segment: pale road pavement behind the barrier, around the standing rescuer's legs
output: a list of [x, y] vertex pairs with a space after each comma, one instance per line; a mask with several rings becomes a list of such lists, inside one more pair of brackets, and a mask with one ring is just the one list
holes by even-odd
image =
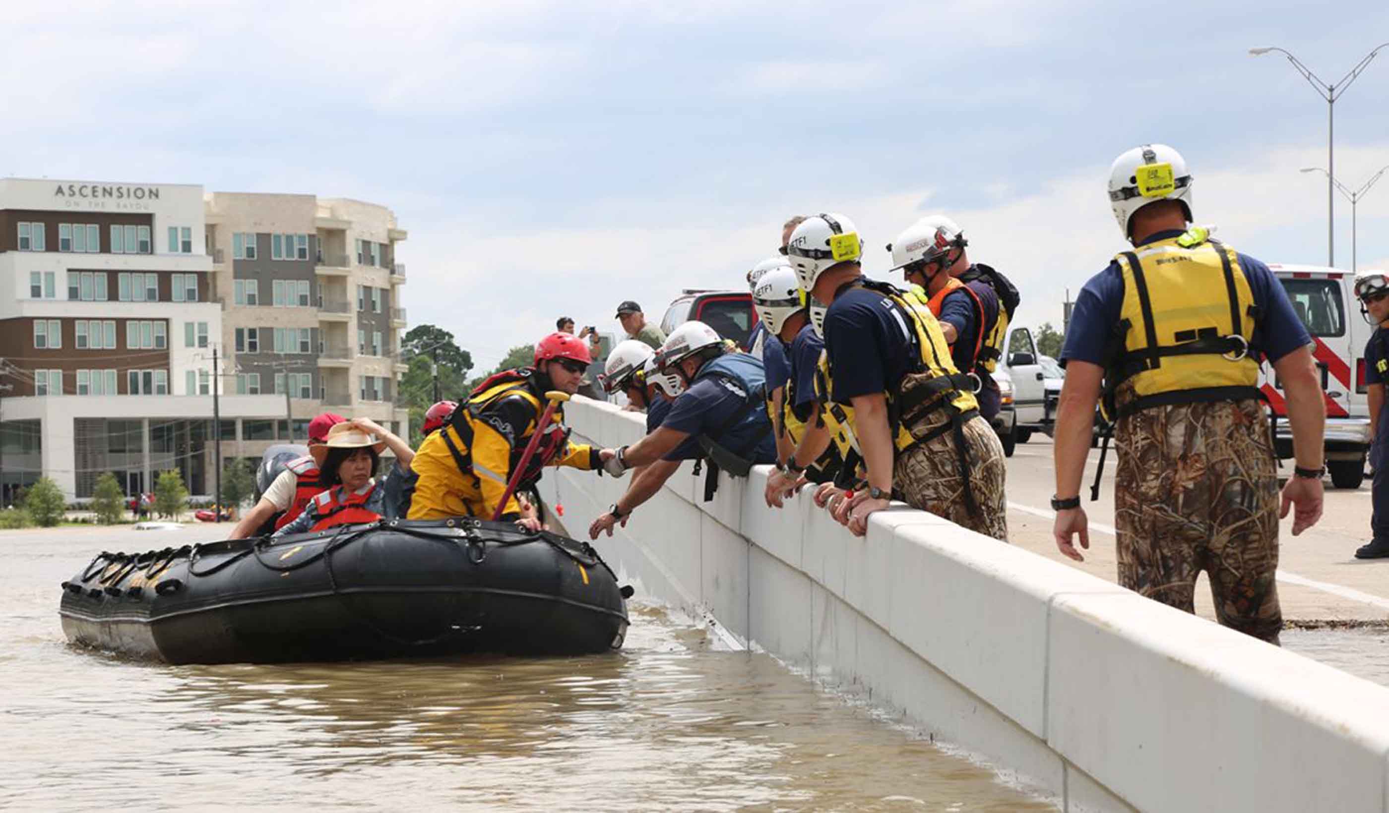
[[[1061, 555], [1051, 538], [1050, 509], [1056, 490], [1051, 468], [1051, 440], [1033, 434], [1018, 444], [1008, 458], [1008, 541], [1014, 545], [1085, 570], [1108, 581], [1115, 580], [1114, 556], [1114, 450], [1106, 462], [1100, 499], [1090, 502], [1090, 481], [1099, 450], [1090, 451], [1085, 468], [1085, 512], [1090, 520], [1090, 549], [1082, 551], [1085, 562]], [[1283, 462], [1292, 473], [1292, 462]], [[1281, 524], [1278, 595], [1286, 622], [1308, 626], [1325, 623], [1389, 624], [1389, 559], [1360, 560], [1356, 548], [1370, 538], [1370, 479], [1357, 490], [1332, 488], [1325, 481], [1326, 501], [1321, 520], [1301, 536], [1292, 536], [1292, 513]], [[1210, 584], [1201, 574], [1196, 587], [1196, 612], [1215, 617]]]

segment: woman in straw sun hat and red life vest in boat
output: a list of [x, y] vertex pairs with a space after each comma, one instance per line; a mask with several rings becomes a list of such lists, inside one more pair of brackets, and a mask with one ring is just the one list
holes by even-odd
[[[381, 452], [388, 447], [396, 455], [396, 465], [378, 481], [374, 474]], [[325, 441], [313, 447], [310, 454], [328, 490], [314, 497], [294, 522], [275, 531], [272, 538], [397, 516], [397, 506], [388, 498], [392, 488], [386, 483], [404, 477], [410, 470], [410, 461], [415, 456], [410, 444], [375, 420], [357, 418], [329, 429]]]

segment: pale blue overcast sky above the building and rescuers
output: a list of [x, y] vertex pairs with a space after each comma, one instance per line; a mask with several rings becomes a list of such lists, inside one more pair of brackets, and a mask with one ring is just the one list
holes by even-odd
[[[6, 10], [0, 175], [354, 197], [410, 232], [410, 322], [479, 366], [560, 314], [617, 330], [738, 287], [781, 222], [838, 211], [883, 244], [954, 216], [1020, 319], [1122, 248], [1104, 185], [1181, 150], [1196, 218], [1270, 262], [1326, 261], [1328, 82], [1389, 4], [40, 3]], [[1389, 49], [1336, 104], [1336, 175], [1389, 164]], [[1350, 268], [1350, 205], [1336, 201]], [[1360, 205], [1389, 266], [1389, 180]]]

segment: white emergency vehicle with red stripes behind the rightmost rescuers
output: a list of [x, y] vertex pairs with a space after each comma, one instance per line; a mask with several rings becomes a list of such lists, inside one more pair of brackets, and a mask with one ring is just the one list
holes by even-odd
[[[1326, 400], [1326, 469], [1336, 488], [1358, 488], [1370, 452], [1370, 400], [1365, 387], [1365, 341], [1374, 333], [1354, 307], [1354, 277], [1347, 271], [1314, 265], [1268, 268], [1288, 291], [1293, 309], [1311, 333], [1311, 352], [1321, 372]], [[1260, 388], [1278, 413], [1279, 458], [1293, 454], [1288, 405], [1271, 365], [1264, 366]]]

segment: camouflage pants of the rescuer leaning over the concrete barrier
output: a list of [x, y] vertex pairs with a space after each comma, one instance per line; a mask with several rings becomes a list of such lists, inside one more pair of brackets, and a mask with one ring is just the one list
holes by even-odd
[[[921, 437], [943, 425], [945, 411], [936, 411], [911, 433]], [[964, 499], [964, 480], [960, 477], [960, 454], [954, 431], [928, 440], [897, 455], [893, 487], [903, 501], [921, 511], [929, 511], [950, 522], [996, 540], [1008, 541], [1007, 501], [1003, 494], [1006, 465], [1003, 444], [983, 418], [971, 418], [964, 425], [965, 454], [968, 455], [970, 488], [976, 513], [971, 513]]]

